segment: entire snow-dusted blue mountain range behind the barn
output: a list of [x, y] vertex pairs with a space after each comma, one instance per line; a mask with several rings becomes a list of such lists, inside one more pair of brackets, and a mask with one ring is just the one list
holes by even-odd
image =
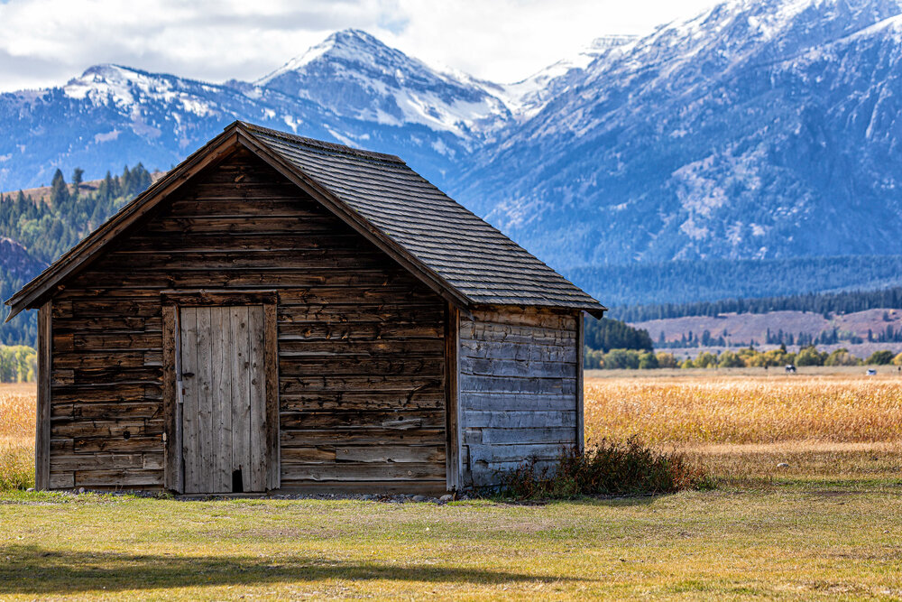
[[0, 190], [168, 168], [235, 120], [396, 153], [549, 264], [902, 255], [897, 0], [732, 0], [515, 84], [354, 30], [254, 82], [0, 95]]

